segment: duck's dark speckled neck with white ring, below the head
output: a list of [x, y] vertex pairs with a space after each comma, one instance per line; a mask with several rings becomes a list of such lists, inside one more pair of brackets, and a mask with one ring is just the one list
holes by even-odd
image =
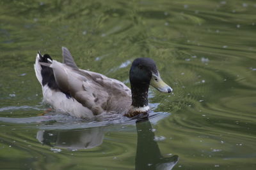
[[148, 106], [148, 84], [131, 84], [132, 104], [126, 114], [127, 117], [134, 117], [140, 113], [147, 113]]

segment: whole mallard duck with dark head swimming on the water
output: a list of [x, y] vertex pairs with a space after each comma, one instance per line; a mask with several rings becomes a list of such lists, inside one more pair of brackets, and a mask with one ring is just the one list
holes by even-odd
[[154, 60], [134, 59], [129, 71], [131, 89], [122, 81], [103, 74], [79, 69], [70, 51], [62, 47], [63, 62], [45, 53], [36, 54], [36, 78], [42, 86], [43, 102], [52, 109], [77, 118], [93, 118], [102, 113], [118, 113], [125, 117], [147, 114], [148, 89], [160, 92], [173, 89], [161, 79]]

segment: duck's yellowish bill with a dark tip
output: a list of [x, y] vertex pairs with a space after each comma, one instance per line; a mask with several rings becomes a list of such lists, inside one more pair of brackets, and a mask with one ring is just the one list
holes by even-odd
[[160, 92], [170, 93], [172, 92], [172, 87], [168, 86], [164, 81], [161, 79], [160, 76], [157, 76], [156, 74], [152, 75], [152, 78], [150, 80], [150, 85], [155, 87]]

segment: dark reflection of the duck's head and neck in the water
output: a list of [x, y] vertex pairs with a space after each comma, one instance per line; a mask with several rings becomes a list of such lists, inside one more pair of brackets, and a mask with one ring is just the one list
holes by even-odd
[[148, 117], [140, 118], [136, 122], [138, 133], [135, 169], [172, 169], [179, 157], [163, 157], [157, 145], [155, 134]]

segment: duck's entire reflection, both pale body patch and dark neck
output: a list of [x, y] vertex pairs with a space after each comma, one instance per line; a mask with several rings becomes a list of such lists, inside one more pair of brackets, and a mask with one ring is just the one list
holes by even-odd
[[[155, 134], [148, 117], [136, 120], [138, 133], [135, 169], [172, 169], [179, 157], [163, 157], [157, 145]], [[103, 127], [83, 129], [83, 131], [38, 131], [36, 139], [49, 146], [69, 149], [88, 149], [102, 144], [104, 138]]]

